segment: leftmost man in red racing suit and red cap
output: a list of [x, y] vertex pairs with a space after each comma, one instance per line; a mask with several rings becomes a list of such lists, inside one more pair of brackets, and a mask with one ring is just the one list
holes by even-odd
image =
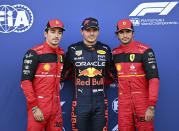
[[62, 131], [60, 75], [64, 51], [59, 48], [63, 24], [47, 24], [46, 41], [28, 50], [23, 59], [21, 87], [27, 99], [27, 131]]

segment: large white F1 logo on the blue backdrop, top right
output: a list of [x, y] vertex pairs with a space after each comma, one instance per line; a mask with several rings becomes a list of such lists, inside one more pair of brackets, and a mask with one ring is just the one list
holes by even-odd
[[144, 16], [148, 13], [160, 13], [159, 15], [167, 15], [178, 2], [151, 2], [142, 3], [129, 16]]

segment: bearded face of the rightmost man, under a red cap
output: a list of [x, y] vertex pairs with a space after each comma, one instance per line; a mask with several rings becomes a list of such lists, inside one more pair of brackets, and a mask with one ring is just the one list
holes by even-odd
[[118, 39], [121, 41], [121, 44], [127, 45], [133, 40], [134, 33], [131, 30], [123, 29], [117, 33], [117, 36]]

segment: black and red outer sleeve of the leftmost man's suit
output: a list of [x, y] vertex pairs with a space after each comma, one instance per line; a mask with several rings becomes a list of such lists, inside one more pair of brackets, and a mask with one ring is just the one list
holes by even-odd
[[32, 81], [38, 66], [38, 55], [33, 50], [28, 50], [23, 58], [21, 88], [24, 91], [30, 108], [37, 106], [37, 98]]

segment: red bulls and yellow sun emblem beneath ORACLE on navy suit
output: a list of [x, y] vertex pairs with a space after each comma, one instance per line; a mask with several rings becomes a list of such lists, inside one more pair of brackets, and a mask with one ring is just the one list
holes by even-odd
[[97, 76], [97, 75], [100, 75], [102, 76], [102, 69], [99, 71], [97, 69], [95, 69], [94, 67], [90, 67], [90, 68], [87, 68], [83, 71], [79, 70], [79, 75], [78, 76], [88, 76], [88, 77], [94, 77], [94, 76]]

